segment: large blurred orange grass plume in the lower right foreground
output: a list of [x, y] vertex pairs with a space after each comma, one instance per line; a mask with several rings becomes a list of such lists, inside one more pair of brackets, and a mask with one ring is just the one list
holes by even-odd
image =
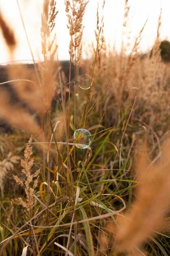
[[[139, 185], [130, 210], [117, 218], [116, 225], [107, 226], [115, 234], [115, 254], [131, 253], [161, 229], [163, 217], [170, 207], [170, 139], [162, 146], [162, 158], [154, 165], [143, 147], [137, 160]], [[136, 255], [136, 254], [132, 254]]]

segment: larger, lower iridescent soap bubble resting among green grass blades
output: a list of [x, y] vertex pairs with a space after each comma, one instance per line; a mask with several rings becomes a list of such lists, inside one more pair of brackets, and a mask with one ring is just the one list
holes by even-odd
[[92, 135], [86, 129], [78, 129], [75, 130], [73, 134], [73, 139], [75, 144], [82, 144], [82, 145], [75, 145], [77, 148], [85, 149], [90, 146], [92, 142]]

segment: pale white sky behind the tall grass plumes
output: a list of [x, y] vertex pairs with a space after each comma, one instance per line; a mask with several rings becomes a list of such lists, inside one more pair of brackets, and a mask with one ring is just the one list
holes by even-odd
[[[67, 17], [65, 14], [64, 0], [57, 0], [56, 34], [58, 54], [60, 60], [69, 59], [68, 44], [69, 34], [66, 27]], [[94, 29], [96, 26], [97, 2], [102, 4], [103, 0], [90, 0], [84, 15], [84, 36], [83, 40], [91, 43], [94, 40]], [[110, 45], [120, 48], [122, 38], [122, 22], [124, 16], [124, 0], [106, 0], [104, 9], [104, 34]], [[157, 33], [157, 20], [162, 7], [162, 27], [161, 39], [170, 40], [170, 0], [129, 0], [131, 5], [130, 27], [132, 39], [137, 36], [144, 22], [148, 18], [148, 23], [144, 30], [141, 41], [141, 50], [150, 49]], [[24, 18], [26, 30], [33, 50], [35, 59], [41, 58], [41, 11], [43, 0], [19, 0], [20, 8]], [[15, 60], [31, 60], [22, 22], [18, 11], [16, 0], [0, 0], [0, 10], [4, 13], [11, 27], [13, 27], [18, 38], [18, 49], [15, 53]], [[132, 41], [133, 42], [133, 41]], [[0, 63], [10, 61], [3, 38], [0, 34]]]

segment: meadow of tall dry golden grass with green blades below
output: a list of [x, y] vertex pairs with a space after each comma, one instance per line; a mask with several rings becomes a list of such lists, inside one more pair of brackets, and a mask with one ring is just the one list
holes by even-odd
[[0, 83], [8, 127], [0, 132], [0, 255], [170, 256], [170, 55], [160, 47], [161, 10], [155, 43], [142, 53], [146, 23], [130, 48], [128, 0], [120, 52], [106, 43], [97, 9], [84, 59], [88, 1], [65, 0], [63, 69], [57, 1], [43, 1], [43, 61], [35, 61], [20, 12], [31, 68], [13, 62], [15, 30], [0, 12], [11, 58]]

